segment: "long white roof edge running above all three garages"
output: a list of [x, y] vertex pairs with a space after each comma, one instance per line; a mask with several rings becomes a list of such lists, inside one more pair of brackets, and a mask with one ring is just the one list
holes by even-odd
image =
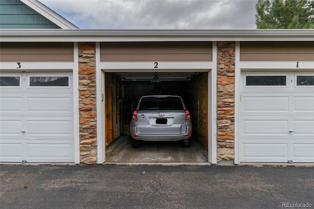
[[2, 29], [1, 41], [314, 41], [314, 29]]

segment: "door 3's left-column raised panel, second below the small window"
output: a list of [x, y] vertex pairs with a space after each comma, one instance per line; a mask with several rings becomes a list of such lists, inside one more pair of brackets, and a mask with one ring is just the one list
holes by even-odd
[[21, 136], [23, 121], [14, 117], [1, 117], [0, 136]]

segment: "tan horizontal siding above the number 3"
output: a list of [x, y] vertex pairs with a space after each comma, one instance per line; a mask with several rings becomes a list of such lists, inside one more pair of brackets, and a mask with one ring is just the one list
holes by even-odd
[[73, 62], [73, 43], [27, 42], [0, 45], [1, 62]]

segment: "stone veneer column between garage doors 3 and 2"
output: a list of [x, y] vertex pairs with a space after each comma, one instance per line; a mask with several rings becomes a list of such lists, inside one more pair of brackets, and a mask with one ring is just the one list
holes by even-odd
[[95, 42], [78, 43], [80, 162], [97, 162]]

